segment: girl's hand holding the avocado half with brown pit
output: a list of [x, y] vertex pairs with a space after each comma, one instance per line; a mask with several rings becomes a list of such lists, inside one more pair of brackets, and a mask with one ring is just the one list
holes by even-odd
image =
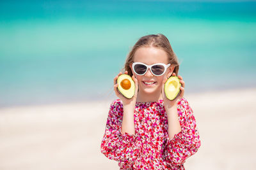
[[[124, 105], [129, 105], [132, 104], [135, 106], [136, 104], [136, 98], [137, 98], [137, 94], [138, 94], [138, 81], [137, 79], [134, 77], [134, 75], [132, 75], [132, 80], [135, 83], [135, 94], [131, 99], [127, 99], [126, 97], [122, 96], [122, 94], [120, 94], [120, 92], [118, 92], [117, 87], [118, 87], [118, 83], [116, 82], [118, 76], [120, 76], [121, 74], [123, 74], [122, 72], [118, 73], [117, 76], [115, 76], [114, 78], [114, 90], [115, 90], [115, 94], [116, 96], [123, 102]], [[128, 74], [128, 71], [125, 71], [125, 74]]]

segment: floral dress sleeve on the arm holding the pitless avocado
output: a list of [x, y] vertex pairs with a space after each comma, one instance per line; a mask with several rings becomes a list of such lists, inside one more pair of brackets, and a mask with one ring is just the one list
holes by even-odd
[[167, 139], [166, 159], [169, 164], [179, 166], [197, 152], [201, 141], [193, 110], [185, 98], [180, 99], [177, 110], [181, 131]]

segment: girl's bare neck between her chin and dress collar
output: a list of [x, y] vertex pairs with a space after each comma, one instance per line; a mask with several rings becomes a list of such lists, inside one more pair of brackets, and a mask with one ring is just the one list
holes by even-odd
[[155, 101], [159, 101], [160, 99], [163, 99], [161, 89], [160, 91], [154, 92], [152, 94], [147, 94], [139, 90], [136, 101], [137, 102], [155, 102]]

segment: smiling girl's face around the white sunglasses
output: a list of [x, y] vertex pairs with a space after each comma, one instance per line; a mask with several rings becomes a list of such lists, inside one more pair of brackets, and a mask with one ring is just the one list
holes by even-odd
[[[156, 63], [168, 64], [168, 56], [164, 50], [161, 48], [155, 47], [140, 47], [134, 53], [133, 62], [142, 62], [147, 65], [152, 65]], [[132, 63], [130, 64], [132, 69]], [[139, 93], [140, 95], [161, 95], [161, 90], [163, 87], [164, 78], [168, 78], [174, 69], [174, 66], [168, 67], [166, 72], [161, 76], [155, 76], [151, 73], [150, 69], [144, 75], [138, 75], [134, 73], [132, 69], [132, 73], [138, 80]], [[149, 97], [148, 96], [148, 97]]]

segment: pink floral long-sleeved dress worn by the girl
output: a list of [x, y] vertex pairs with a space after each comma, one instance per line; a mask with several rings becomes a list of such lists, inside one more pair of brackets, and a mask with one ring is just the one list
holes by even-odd
[[135, 134], [121, 133], [123, 105], [111, 103], [101, 152], [118, 161], [120, 169], [184, 169], [185, 160], [200, 147], [196, 120], [188, 101], [178, 103], [182, 131], [168, 138], [168, 119], [163, 100], [136, 103]]

